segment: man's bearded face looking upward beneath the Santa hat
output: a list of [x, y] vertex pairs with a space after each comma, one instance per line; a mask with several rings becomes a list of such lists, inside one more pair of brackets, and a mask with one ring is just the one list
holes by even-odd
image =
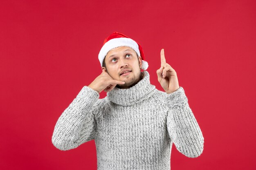
[[[110, 50], [105, 57], [107, 73], [113, 79], [123, 81], [125, 84], [117, 84], [118, 88], [130, 88], [140, 80], [141, 56], [139, 60], [136, 52], [127, 46], [120, 46]], [[125, 70], [131, 71], [121, 74]]]

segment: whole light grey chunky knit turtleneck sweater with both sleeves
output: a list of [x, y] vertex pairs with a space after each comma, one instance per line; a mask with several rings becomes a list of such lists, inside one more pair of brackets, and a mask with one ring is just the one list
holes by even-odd
[[180, 86], [167, 94], [150, 84], [148, 71], [128, 88], [103, 99], [84, 86], [55, 125], [53, 145], [70, 150], [94, 139], [97, 170], [170, 170], [171, 148], [202, 154], [204, 137]]

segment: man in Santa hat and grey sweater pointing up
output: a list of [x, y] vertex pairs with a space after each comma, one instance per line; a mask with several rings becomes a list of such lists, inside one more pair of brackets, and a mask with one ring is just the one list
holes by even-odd
[[[204, 137], [177, 73], [161, 50], [159, 91], [150, 84], [139, 43], [114, 32], [99, 52], [102, 73], [59, 117], [52, 143], [74, 149], [94, 139], [98, 170], [170, 170], [172, 145], [186, 157], [202, 154]], [[99, 93], [107, 96], [99, 99]]]

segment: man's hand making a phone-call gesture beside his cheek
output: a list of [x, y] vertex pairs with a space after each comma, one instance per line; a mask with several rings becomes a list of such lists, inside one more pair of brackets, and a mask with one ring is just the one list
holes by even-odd
[[102, 73], [88, 87], [101, 93], [103, 90], [105, 92], [111, 91], [117, 84], [125, 84], [125, 82], [113, 79], [105, 69], [102, 69]]

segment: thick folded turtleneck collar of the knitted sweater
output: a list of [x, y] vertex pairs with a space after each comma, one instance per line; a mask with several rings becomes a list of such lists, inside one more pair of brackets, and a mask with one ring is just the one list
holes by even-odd
[[153, 95], [155, 86], [150, 84], [148, 71], [143, 71], [141, 74], [143, 78], [134, 86], [126, 89], [115, 87], [109, 91], [108, 99], [115, 104], [130, 106]]

